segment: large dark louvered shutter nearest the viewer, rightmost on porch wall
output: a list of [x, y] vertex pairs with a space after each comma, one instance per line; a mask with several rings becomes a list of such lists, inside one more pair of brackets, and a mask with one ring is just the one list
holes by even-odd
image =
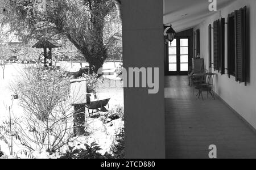
[[246, 84], [247, 62], [247, 24], [246, 7], [235, 11], [235, 36], [236, 36], [236, 80]]

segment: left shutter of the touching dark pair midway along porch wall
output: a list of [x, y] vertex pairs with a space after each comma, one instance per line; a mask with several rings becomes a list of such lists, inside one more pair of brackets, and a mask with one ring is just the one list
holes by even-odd
[[213, 64], [214, 70], [219, 70], [219, 28], [220, 28], [220, 21], [216, 20], [213, 22]]

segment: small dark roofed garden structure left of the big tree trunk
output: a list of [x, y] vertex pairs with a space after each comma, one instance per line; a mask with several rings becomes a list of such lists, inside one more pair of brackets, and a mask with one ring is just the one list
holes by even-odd
[[[44, 49], [44, 52], [43, 52], [44, 67], [47, 67], [47, 59], [49, 60], [49, 67], [52, 67], [52, 49], [59, 48], [59, 47], [61, 47], [61, 45], [58, 44], [56, 41], [53, 41], [52, 39], [42, 39], [36, 42], [36, 44], [32, 46], [32, 48]], [[48, 53], [47, 53], [47, 48], [49, 49]]]

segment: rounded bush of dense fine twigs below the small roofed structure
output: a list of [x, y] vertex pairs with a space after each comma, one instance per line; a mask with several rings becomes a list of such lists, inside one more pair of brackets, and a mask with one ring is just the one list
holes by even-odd
[[35, 114], [39, 120], [45, 121], [58, 104], [68, 99], [70, 78], [64, 71], [30, 65], [21, 75], [13, 91], [28, 115]]

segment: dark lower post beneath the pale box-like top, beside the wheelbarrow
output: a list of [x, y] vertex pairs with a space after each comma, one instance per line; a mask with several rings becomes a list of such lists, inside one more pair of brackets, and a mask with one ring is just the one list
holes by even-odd
[[74, 105], [74, 134], [75, 137], [85, 134], [85, 104]]

